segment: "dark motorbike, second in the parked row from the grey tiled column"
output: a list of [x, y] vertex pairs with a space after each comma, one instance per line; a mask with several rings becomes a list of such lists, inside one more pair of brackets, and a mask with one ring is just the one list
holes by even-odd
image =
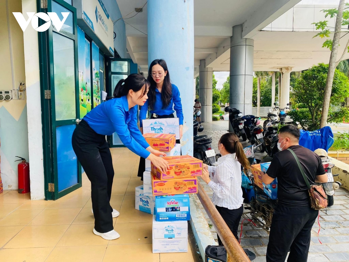
[[259, 119], [255, 119], [253, 115], [243, 116], [242, 119], [244, 122], [244, 130], [247, 135], [248, 140], [252, 145], [259, 147], [259, 150], [263, 153], [265, 151], [265, 142], [263, 138], [263, 129], [259, 125]]

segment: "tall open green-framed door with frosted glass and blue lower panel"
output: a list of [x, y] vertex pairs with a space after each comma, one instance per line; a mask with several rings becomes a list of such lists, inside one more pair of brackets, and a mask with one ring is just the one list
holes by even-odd
[[45, 193], [47, 199], [58, 199], [81, 187], [81, 165], [71, 142], [80, 120], [82, 100], [78, 90], [77, 21], [76, 9], [67, 1], [47, 1], [47, 9], [41, 9], [43, 11], [55, 12], [60, 20], [63, 19], [61, 12], [69, 12], [59, 32], [53, 25], [44, 32], [46, 52], [41, 53], [41, 59], [44, 59], [43, 55], [47, 59], [47, 82], [42, 86], [47, 88], [44, 99], [48, 99], [48, 105], [44, 106], [44, 110], [50, 119], [44, 127], [44, 135], [49, 136], [44, 139], [44, 147], [50, 140], [50, 151], [47, 152], [50, 155], [46, 154], [50, 163], [45, 161], [45, 181], [48, 182], [45, 183]]

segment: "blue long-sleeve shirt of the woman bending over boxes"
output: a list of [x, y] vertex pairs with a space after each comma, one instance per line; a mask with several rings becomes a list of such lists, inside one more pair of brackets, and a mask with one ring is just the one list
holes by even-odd
[[147, 158], [149, 147], [137, 126], [137, 107], [128, 110], [126, 96], [108, 100], [95, 107], [84, 116], [84, 120], [97, 133], [111, 136], [118, 134], [122, 143], [133, 153]]

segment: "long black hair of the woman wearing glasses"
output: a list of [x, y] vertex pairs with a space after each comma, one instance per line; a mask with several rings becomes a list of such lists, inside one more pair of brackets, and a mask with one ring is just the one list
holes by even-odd
[[[167, 68], [167, 64], [166, 61], [164, 59], [155, 59], [153, 62], [151, 62], [150, 66], [149, 66], [149, 71], [148, 71], [148, 81], [150, 82], [150, 87], [149, 87], [149, 108], [150, 109], [154, 109], [154, 105], [156, 102], [156, 93], [155, 93], [155, 89], [156, 89], [156, 82], [154, 81], [153, 77], [151, 76], [151, 71], [153, 69], [154, 65], [160, 65], [162, 68], [164, 68], [164, 71], [167, 71], [167, 74], [164, 78], [164, 84], [162, 86], [162, 90], [161, 90], [161, 99], [162, 99], [162, 105], [163, 105], [163, 109], [168, 107], [171, 99], [172, 99], [172, 84], [171, 84], [171, 79], [170, 79], [170, 73], [169, 70]], [[164, 73], [165, 73], [164, 72]]]

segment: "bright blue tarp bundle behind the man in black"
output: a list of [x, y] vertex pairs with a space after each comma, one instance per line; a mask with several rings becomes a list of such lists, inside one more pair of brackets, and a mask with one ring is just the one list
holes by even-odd
[[325, 149], [332, 146], [334, 142], [332, 129], [329, 126], [325, 126], [315, 131], [304, 131], [300, 130], [299, 145], [304, 146], [311, 151], [318, 148]]

